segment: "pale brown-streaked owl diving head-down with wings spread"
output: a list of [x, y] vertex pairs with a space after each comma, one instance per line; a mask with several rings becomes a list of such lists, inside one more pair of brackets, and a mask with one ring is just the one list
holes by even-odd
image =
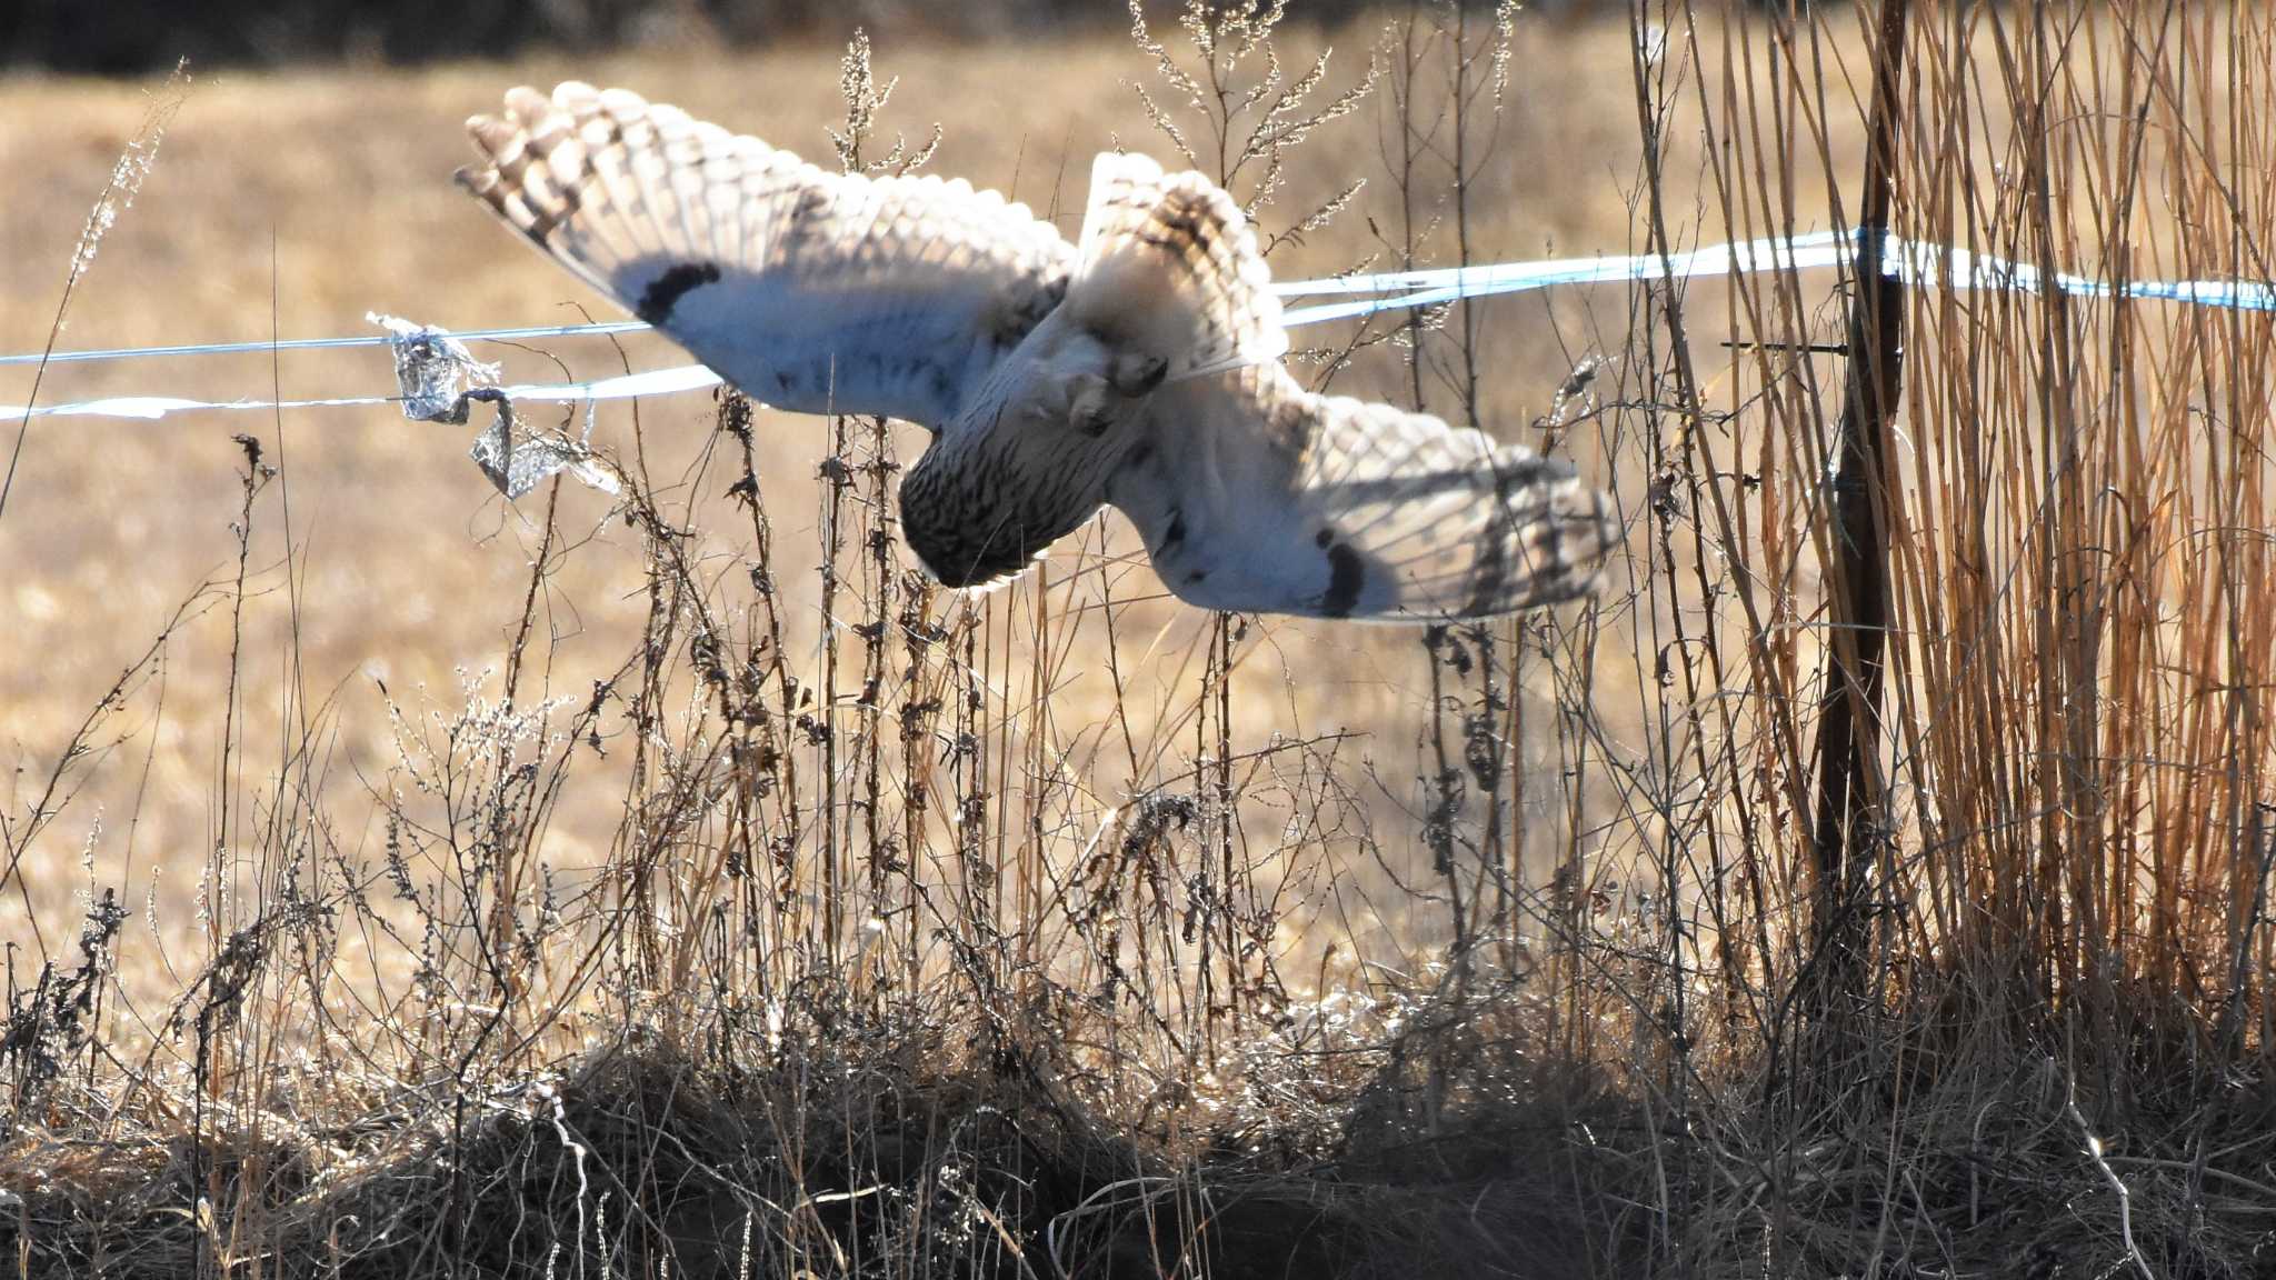
[[933, 430], [901, 528], [947, 585], [1099, 506], [1181, 599], [1457, 620], [1586, 594], [1618, 540], [1573, 469], [1304, 389], [1240, 207], [1099, 155], [1081, 239], [995, 191], [828, 173], [624, 89], [514, 89], [460, 182], [751, 399]]

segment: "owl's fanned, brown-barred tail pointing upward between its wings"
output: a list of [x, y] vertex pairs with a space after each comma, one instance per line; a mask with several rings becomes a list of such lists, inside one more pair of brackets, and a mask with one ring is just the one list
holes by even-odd
[[1081, 266], [1065, 307], [1170, 378], [1268, 364], [1288, 351], [1272, 276], [1240, 205], [1199, 173], [1143, 155], [1090, 166]]

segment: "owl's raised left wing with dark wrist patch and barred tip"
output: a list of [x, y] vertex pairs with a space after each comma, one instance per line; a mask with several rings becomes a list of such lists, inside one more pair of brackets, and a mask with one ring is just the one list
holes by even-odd
[[460, 182], [753, 399], [940, 426], [1074, 248], [967, 182], [828, 173], [624, 89], [514, 89]]

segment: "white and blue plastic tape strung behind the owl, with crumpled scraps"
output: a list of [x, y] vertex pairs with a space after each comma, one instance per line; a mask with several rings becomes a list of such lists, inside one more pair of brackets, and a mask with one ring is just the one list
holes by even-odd
[[[1388, 271], [1334, 276], [1325, 280], [1288, 280], [1272, 285], [1284, 298], [1336, 298], [1281, 312], [1286, 328], [1363, 319], [1393, 310], [1434, 307], [1461, 298], [1518, 294], [1561, 285], [1616, 285], [1634, 280], [1705, 280], [1714, 276], [1757, 271], [1809, 271], [1850, 260], [1857, 232], [1816, 232], [1803, 237], [1753, 239], [1702, 246], [1687, 253], [1643, 253], [1625, 257], [1557, 257], [1543, 262], [1502, 262], [1452, 266], [1436, 271]], [[2265, 280], [2126, 280], [2110, 282], [2089, 276], [2048, 273], [2026, 262], [1989, 253], [1971, 253], [1941, 244], [1907, 241], [1889, 235], [1882, 241], [1882, 271], [1905, 285], [1939, 285], [1951, 289], [2014, 289], [2028, 294], [2069, 294], [2080, 298], [2169, 301], [2228, 310], [2276, 310], [2276, 282]], [[127, 360], [157, 355], [225, 355], [255, 351], [314, 351], [339, 346], [391, 346], [396, 358], [396, 396], [339, 396], [307, 401], [193, 401], [180, 396], [112, 396], [61, 405], [0, 405], [0, 421], [25, 417], [118, 417], [162, 419], [191, 410], [303, 410], [401, 403], [417, 421], [464, 424], [473, 401], [498, 405], [498, 421], [476, 440], [476, 462], [508, 497], [528, 492], [558, 471], [576, 471], [587, 483], [610, 487], [615, 476], [601, 465], [587, 440], [564, 433], [523, 430], [512, 419], [512, 405], [526, 401], [583, 403], [587, 430], [599, 401], [665, 396], [717, 387], [721, 378], [701, 364], [651, 369], [599, 378], [589, 383], [496, 385], [496, 367], [473, 358], [469, 342], [517, 342], [539, 337], [621, 335], [649, 328], [640, 321], [487, 328], [446, 333], [391, 317], [371, 317], [385, 337], [305, 337], [287, 342], [216, 342], [193, 346], [146, 346], [114, 351], [55, 351], [46, 355], [0, 355], [5, 364], [73, 364], [91, 360]], [[603, 481], [608, 481], [603, 485]]]

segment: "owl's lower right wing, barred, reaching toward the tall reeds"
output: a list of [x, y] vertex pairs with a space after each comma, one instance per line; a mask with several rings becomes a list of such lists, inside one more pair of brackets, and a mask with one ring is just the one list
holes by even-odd
[[1227, 610], [1443, 622], [1586, 594], [1621, 540], [1568, 462], [1279, 364], [1170, 385], [1111, 487], [1161, 581]]

